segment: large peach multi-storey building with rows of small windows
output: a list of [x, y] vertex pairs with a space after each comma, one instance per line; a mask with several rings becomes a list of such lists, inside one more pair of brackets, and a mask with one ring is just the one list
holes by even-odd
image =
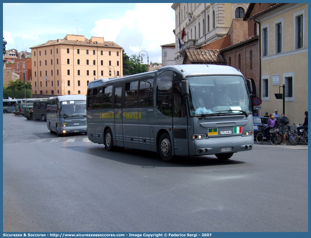
[[122, 47], [103, 37], [67, 35], [30, 49], [34, 97], [86, 95], [90, 81], [123, 76]]

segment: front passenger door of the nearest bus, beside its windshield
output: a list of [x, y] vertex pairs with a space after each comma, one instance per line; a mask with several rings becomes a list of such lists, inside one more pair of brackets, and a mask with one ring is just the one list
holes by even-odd
[[181, 82], [173, 82], [173, 140], [175, 155], [186, 155], [188, 150], [188, 118]]

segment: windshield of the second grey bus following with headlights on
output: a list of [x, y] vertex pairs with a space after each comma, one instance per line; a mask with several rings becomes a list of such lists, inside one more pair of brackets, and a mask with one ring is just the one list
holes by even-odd
[[60, 117], [86, 117], [86, 101], [62, 101], [60, 105]]

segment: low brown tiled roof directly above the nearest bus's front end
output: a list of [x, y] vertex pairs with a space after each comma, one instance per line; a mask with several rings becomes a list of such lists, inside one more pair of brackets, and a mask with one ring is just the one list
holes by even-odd
[[225, 57], [219, 50], [186, 50], [191, 63], [225, 64]]

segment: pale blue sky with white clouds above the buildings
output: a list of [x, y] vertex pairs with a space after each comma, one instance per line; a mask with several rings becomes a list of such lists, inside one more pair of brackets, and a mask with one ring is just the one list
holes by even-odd
[[[67, 34], [103, 37], [128, 56], [145, 50], [162, 61], [160, 45], [174, 43], [172, 3], [3, 3], [6, 49], [27, 50]], [[143, 59], [147, 62], [147, 58]]]

